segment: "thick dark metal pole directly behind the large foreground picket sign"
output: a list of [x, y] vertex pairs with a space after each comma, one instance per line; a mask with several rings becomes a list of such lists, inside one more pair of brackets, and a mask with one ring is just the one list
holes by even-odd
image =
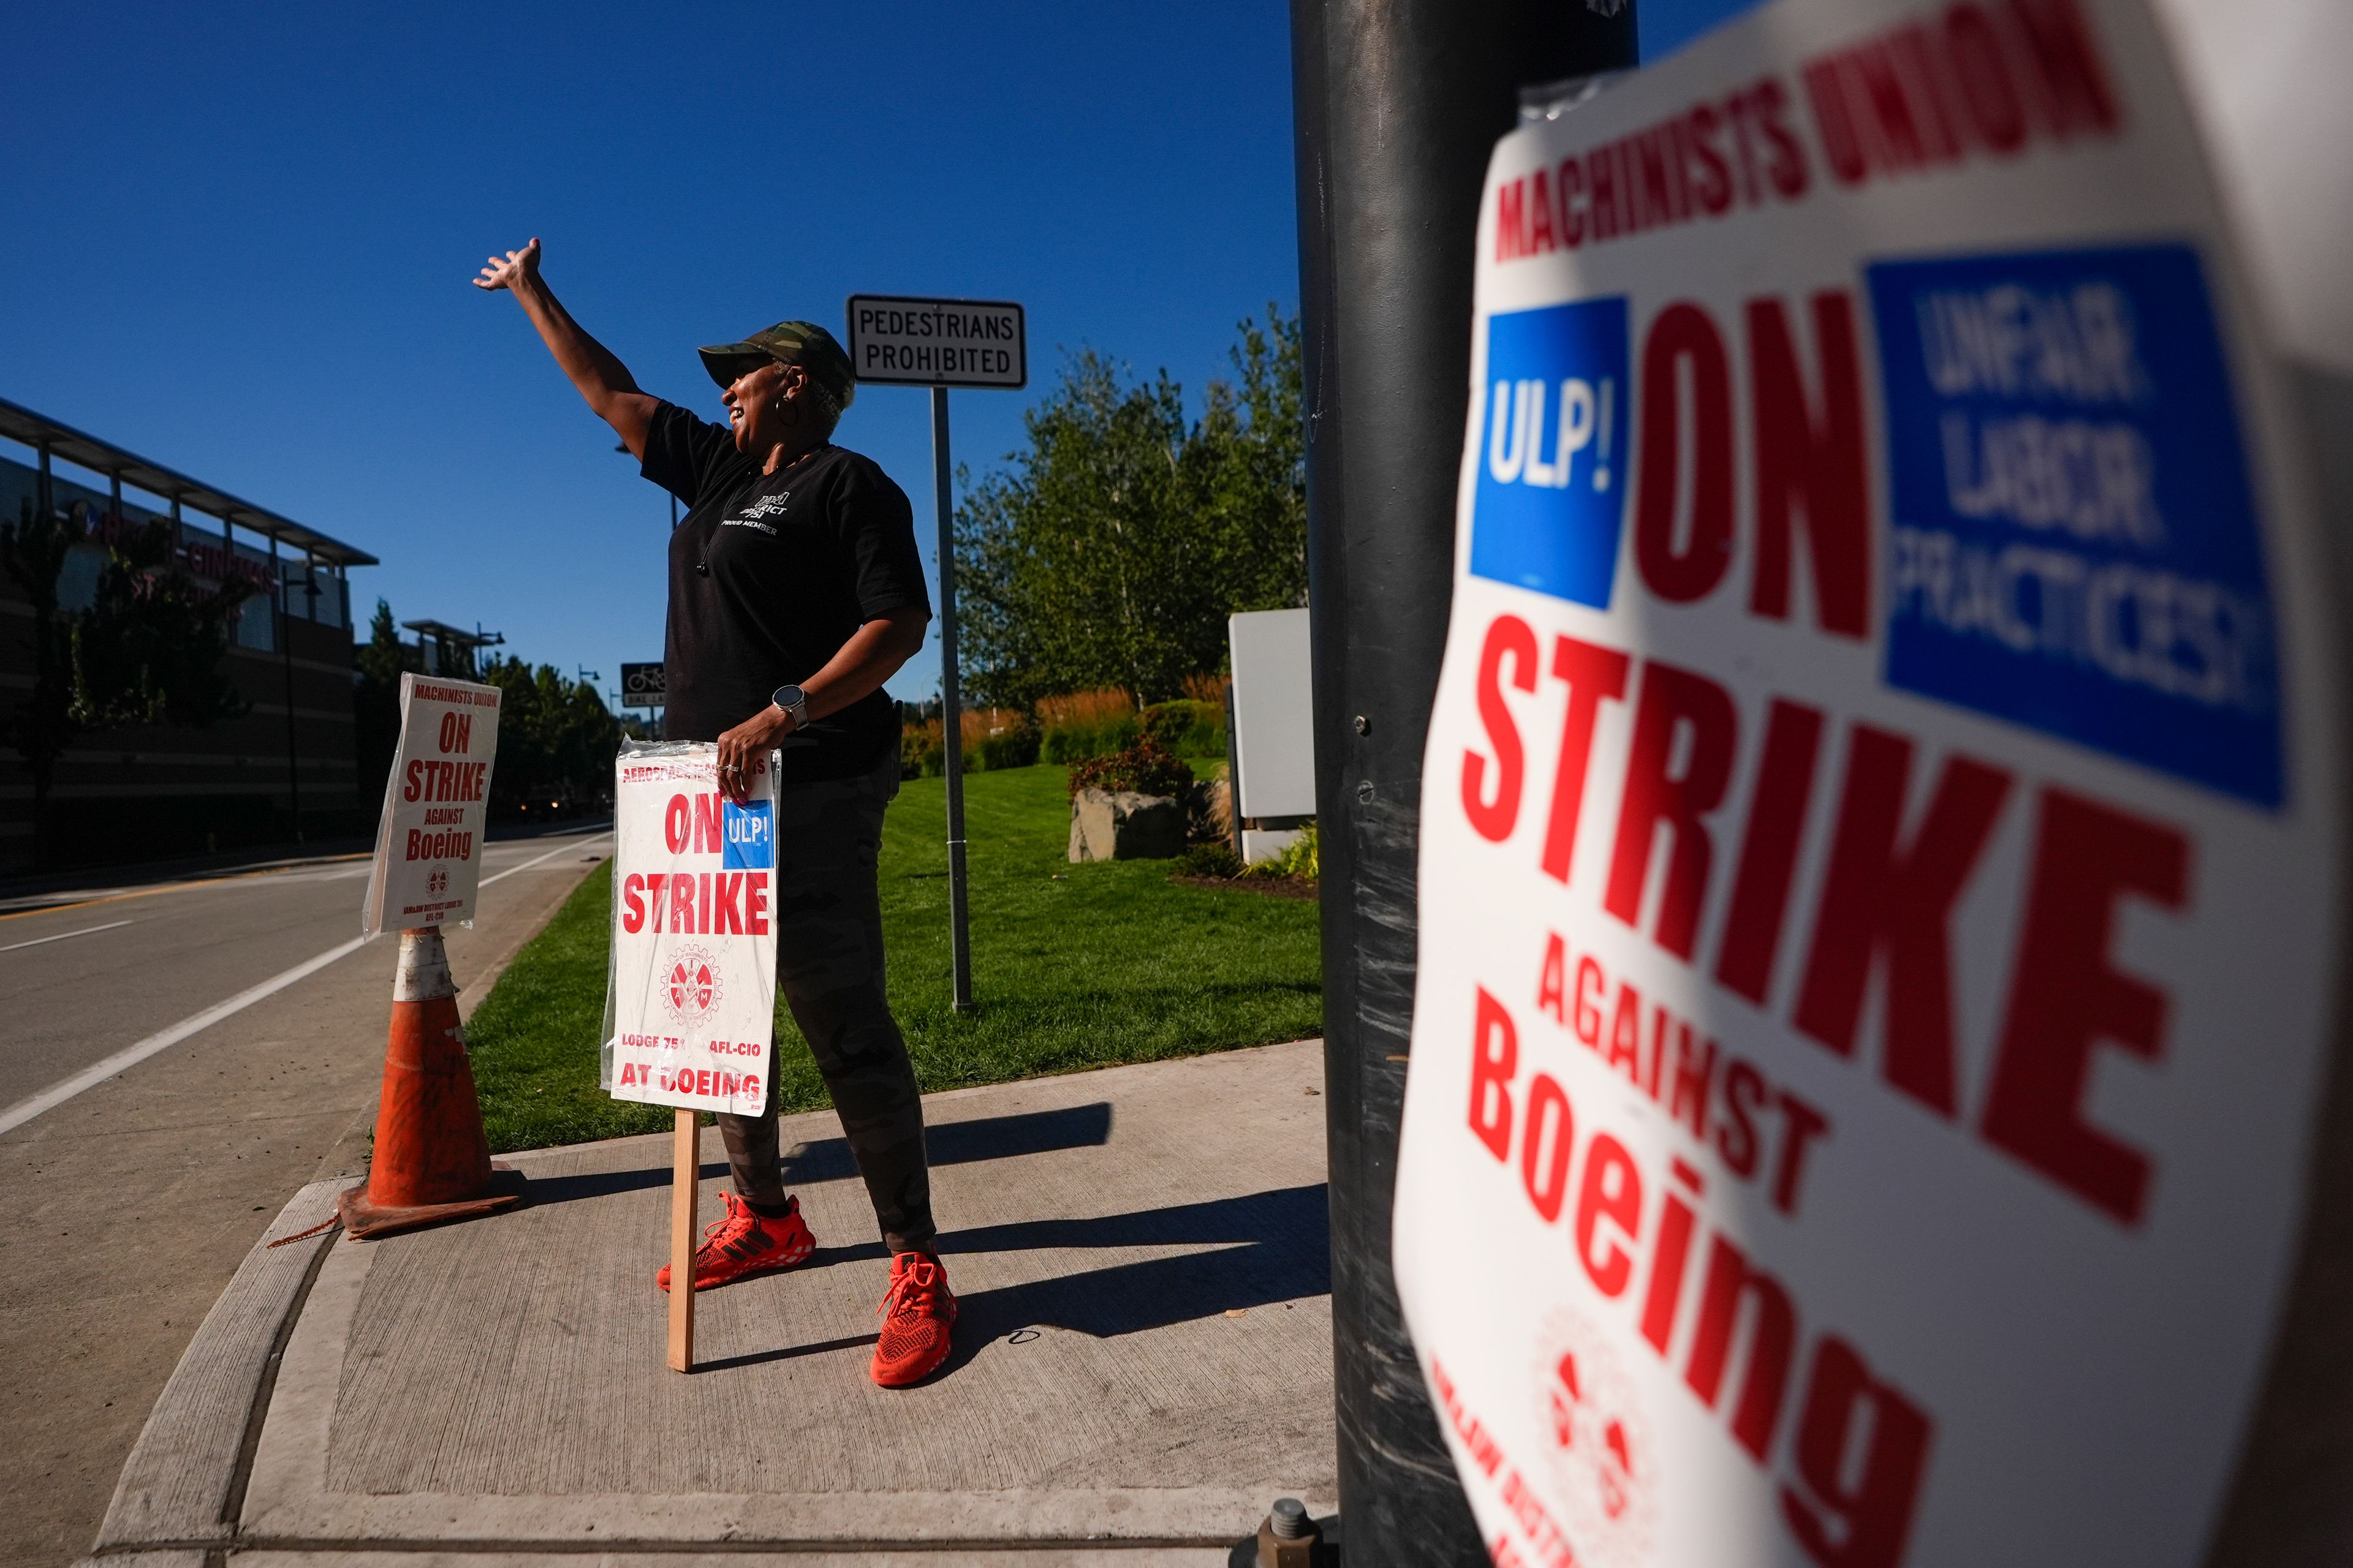
[[1421, 743], [1454, 576], [1480, 176], [1518, 89], [1633, 66], [1633, 0], [1292, 0], [1348, 1568], [1487, 1563], [1388, 1262]]

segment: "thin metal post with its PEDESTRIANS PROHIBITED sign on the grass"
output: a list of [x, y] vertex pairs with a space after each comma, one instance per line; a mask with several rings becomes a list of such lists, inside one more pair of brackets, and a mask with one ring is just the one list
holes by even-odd
[[984, 299], [849, 296], [849, 364], [859, 381], [932, 388], [932, 494], [939, 515], [939, 729], [948, 764], [948, 945], [955, 1011], [972, 1011], [972, 917], [965, 884], [965, 726], [955, 689], [955, 494], [948, 388], [1028, 383], [1028, 315]]

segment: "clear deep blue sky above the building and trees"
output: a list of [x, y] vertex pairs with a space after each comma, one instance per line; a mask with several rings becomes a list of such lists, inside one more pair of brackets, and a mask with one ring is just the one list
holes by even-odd
[[[1737, 9], [1642, 0], [1645, 56]], [[489, 249], [539, 235], [706, 418], [696, 343], [838, 329], [852, 292], [1024, 301], [1031, 388], [953, 395], [976, 470], [1061, 350], [1198, 393], [1299, 299], [1275, 0], [28, 7], [9, 56], [0, 397], [384, 557], [355, 609], [607, 689], [661, 656], [668, 501], [468, 287]], [[840, 440], [929, 562], [927, 395], [866, 388]]]

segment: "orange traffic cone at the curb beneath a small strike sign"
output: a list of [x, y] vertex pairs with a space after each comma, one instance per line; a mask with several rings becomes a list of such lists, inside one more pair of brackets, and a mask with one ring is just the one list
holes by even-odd
[[520, 1197], [522, 1173], [489, 1164], [440, 929], [402, 931], [376, 1157], [367, 1180], [336, 1201], [336, 1215], [360, 1239], [492, 1213]]

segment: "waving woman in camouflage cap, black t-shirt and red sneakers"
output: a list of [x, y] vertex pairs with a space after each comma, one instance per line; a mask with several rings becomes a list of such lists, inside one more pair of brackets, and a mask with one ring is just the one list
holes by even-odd
[[[906, 491], [833, 444], [856, 383], [824, 327], [779, 322], [704, 348], [729, 421], [713, 425], [640, 393], [581, 331], [539, 275], [539, 240], [492, 256], [475, 287], [513, 292], [640, 473], [687, 505], [671, 534], [664, 729], [718, 741], [720, 788], [736, 799], [748, 759], [781, 752], [776, 983], [892, 1251], [873, 1378], [918, 1382], [948, 1356], [955, 1295], [934, 1248], [915, 1070], [882, 994], [875, 893], [882, 809], [899, 792], [899, 712], [882, 682], [932, 621]], [[765, 1114], [720, 1117], [734, 1192], [694, 1255], [696, 1291], [816, 1248], [776, 1164], [774, 1081]]]

